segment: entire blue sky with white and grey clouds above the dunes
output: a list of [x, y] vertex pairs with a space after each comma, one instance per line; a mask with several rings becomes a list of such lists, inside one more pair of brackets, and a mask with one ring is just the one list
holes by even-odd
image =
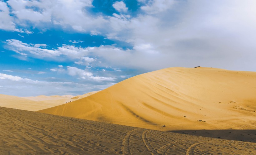
[[0, 94], [79, 95], [168, 67], [256, 71], [255, 0], [0, 0]]

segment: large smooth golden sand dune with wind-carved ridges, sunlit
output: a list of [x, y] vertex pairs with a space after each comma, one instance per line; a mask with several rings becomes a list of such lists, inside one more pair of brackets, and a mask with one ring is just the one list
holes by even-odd
[[163, 131], [255, 130], [255, 94], [256, 72], [175, 67], [39, 112]]

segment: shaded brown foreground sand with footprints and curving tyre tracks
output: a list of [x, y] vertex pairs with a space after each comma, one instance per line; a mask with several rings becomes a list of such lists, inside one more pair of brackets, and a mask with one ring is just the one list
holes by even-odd
[[255, 155], [256, 143], [0, 107], [1, 155]]

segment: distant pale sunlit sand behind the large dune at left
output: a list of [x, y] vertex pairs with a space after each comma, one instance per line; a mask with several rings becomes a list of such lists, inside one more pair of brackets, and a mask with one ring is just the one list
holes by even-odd
[[0, 94], [0, 106], [6, 108], [14, 108], [29, 111], [38, 111], [42, 109], [51, 108], [61, 104], [75, 101], [91, 94], [95, 94], [98, 91], [86, 93], [83, 95], [52, 95], [52, 96], [29, 96], [29, 97], [17, 97], [12, 95]]

